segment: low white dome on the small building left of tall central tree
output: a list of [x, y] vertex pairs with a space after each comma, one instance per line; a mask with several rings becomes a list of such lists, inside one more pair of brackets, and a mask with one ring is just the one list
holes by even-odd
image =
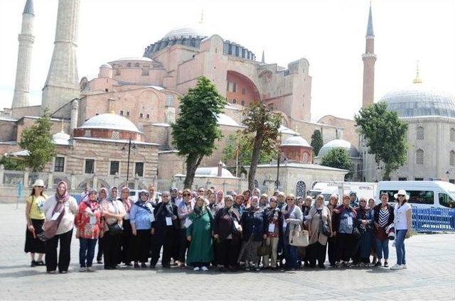
[[85, 121], [79, 128], [105, 128], [116, 131], [141, 133], [137, 127], [124, 116], [110, 113], [93, 116]]

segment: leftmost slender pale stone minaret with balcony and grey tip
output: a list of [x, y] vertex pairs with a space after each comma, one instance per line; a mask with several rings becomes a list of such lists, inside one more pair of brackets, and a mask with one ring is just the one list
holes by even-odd
[[16, 84], [11, 108], [28, 106], [28, 92], [30, 89], [30, 63], [33, 48], [33, 0], [27, 0], [22, 13], [22, 30], [19, 34], [19, 50], [17, 55]]

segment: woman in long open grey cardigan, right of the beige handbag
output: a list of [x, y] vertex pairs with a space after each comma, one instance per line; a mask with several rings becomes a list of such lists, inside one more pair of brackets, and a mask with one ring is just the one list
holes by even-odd
[[316, 197], [316, 204], [310, 209], [311, 220], [308, 224], [309, 238], [309, 262], [310, 268], [316, 267], [316, 260], [319, 268], [326, 268], [326, 246], [328, 237], [332, 236], [332, 219], [330, 211], [324, 205], [323, 195]]

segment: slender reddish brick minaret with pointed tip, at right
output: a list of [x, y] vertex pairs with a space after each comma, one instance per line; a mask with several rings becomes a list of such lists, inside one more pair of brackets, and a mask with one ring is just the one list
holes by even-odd
[[368, 16], [365, 53], [363, 60], [363, 100], [362, 107], [370, 106], [375, 101], [375, 34], [373, 33], [373, 16]]

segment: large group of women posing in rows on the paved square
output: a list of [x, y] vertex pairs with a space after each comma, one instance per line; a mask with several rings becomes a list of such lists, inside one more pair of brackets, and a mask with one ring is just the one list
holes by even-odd
[[77, 204], [65, 182], [51, 197], [43, 190], [36, 180], [26, 206], [25, 251], [31, 266], [45, 265], [48, 273], [68, 272], [74, 227], [80, 271], [92, 271], [97, 243], [97, 261], [104, 257], [107, 270], [155, 268], [160, 257], [163, 268], [203, 271], [326, 268], [327, 253], [333, 267], [388, 267], [391, 239], [397, 250], [392, 269], [406, 268], [412, 212], [404, 190], [395, 195], [395, 206], [387, 194], [379, 204], [355, 193], [341, 200], [331, 195], [325, 204], [323, 195], [315, 201], [279, 191], [269, 197], [257, 188], [227, 195], [171, 188], [158, 197], [153, 186], [139, 191], [137, 200], [127, 187], [87, 190]]

